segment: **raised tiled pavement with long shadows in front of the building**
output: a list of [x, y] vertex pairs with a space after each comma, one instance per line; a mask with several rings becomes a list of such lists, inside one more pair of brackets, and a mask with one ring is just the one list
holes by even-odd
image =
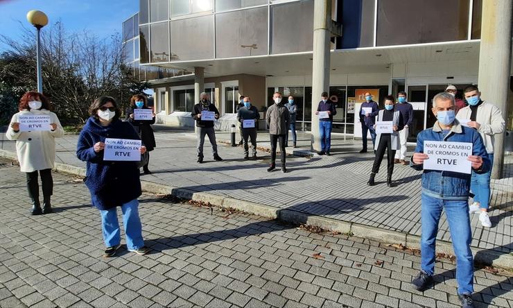
[[[299, 145], [308, 144], [309, 135], [299, 134]], [[3, 134], [2, 137], [3, 138]], [[229, 134], [220, 133], [220, 141]], [[237, 135], [238, 138], [238, 135]], [[268, 134], [259, 133], [259, 146], [266, 146]], [[336, 137], [337, 138], [337, 137]], [[340, 137], [338, 137], [340, 138]], [[342, 137], [343, 138], [343, 137]], [[73, 166], [85, 166], [75, 156], [77, 136], [57, 139], [57, 161]], [[401, 234], [420, 235], [420, 176], [409, 166], [396, 164], [394, 182], [397, 187], [384, 184], [386, 166], [376, 177], [378, 185], [368, 187], [374, 155], [361, 155], [361, 141], [333, 140], [330, 157], [288, 156], [289, 173], [268, 173], [268, 153], [259, 151], [259, 160], [245, 161], [241, 147], [218, 142], [224, 162], [211, 160], [209, 143], [205, 146], [204, 164], [197, 164], [195, 135], [192, 132], [156, 132], [157, 148], [150, 153], [153, 174], [142, 180], [171, 185], [190, 191], [205, 192], [220, 198], [234, 198], [275, 209], [292, 209], [310, 216], [322, 216], [336, 221], [391, 230]], [[3, 150], [14, 151], [14, 142], [2, 139]], [[508, 170], [513, 157], [506, 157]], [[279, 164], [278, 164], [279, 166]], [[471, 216], [472, 246], [481, 250], [509, 254], [512, 251], [513, 178], [494, 183], [492, 210], [489, 212], [492, 228], [482, 228], [478, 215]], [[360, 236], [365, 235], [358, 234]], [[438, 239], [450, 240], [448, 224], [440, 222]]]

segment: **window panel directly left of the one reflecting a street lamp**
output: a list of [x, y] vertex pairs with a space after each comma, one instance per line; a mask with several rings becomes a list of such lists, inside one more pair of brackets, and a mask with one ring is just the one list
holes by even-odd
[[214, 58], [214, 16], [171, 21], [171, 61]]

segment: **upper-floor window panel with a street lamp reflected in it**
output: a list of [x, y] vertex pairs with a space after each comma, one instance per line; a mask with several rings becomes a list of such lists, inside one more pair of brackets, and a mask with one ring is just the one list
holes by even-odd
[[216, 15], [216, 58], [267, 53], [268, 7]]

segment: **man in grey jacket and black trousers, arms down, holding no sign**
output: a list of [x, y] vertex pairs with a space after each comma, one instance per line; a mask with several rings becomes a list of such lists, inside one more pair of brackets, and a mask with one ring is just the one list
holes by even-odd
[[267, 169], [271, 172], [276, 169], [276, 146], [279, 141], [279, 150], [281, 151], [281, 172], [286, 173], [285, 167], [285, 138], [288, 134], [288, 126], [290, 126], [290, 113], [281, 103], [281, 93], [275, 92], [272, 95], [274, 105], [270, 106], [267, 110], [266, 121], [269, 125], [269, 134], [271, 141], [271, 165]]

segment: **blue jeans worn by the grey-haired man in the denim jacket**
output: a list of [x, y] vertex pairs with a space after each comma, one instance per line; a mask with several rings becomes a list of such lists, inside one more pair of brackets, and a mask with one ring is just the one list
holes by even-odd
[[451, 240], [456, 255], [458, 294], [473, 293], [473, 257], [470, 250], [469, 204], [467, 200], [443, 200], [422, 194], [421, 268], [428, 275], [435, 272], [435, 245], [438, 222], [445, 209]]

